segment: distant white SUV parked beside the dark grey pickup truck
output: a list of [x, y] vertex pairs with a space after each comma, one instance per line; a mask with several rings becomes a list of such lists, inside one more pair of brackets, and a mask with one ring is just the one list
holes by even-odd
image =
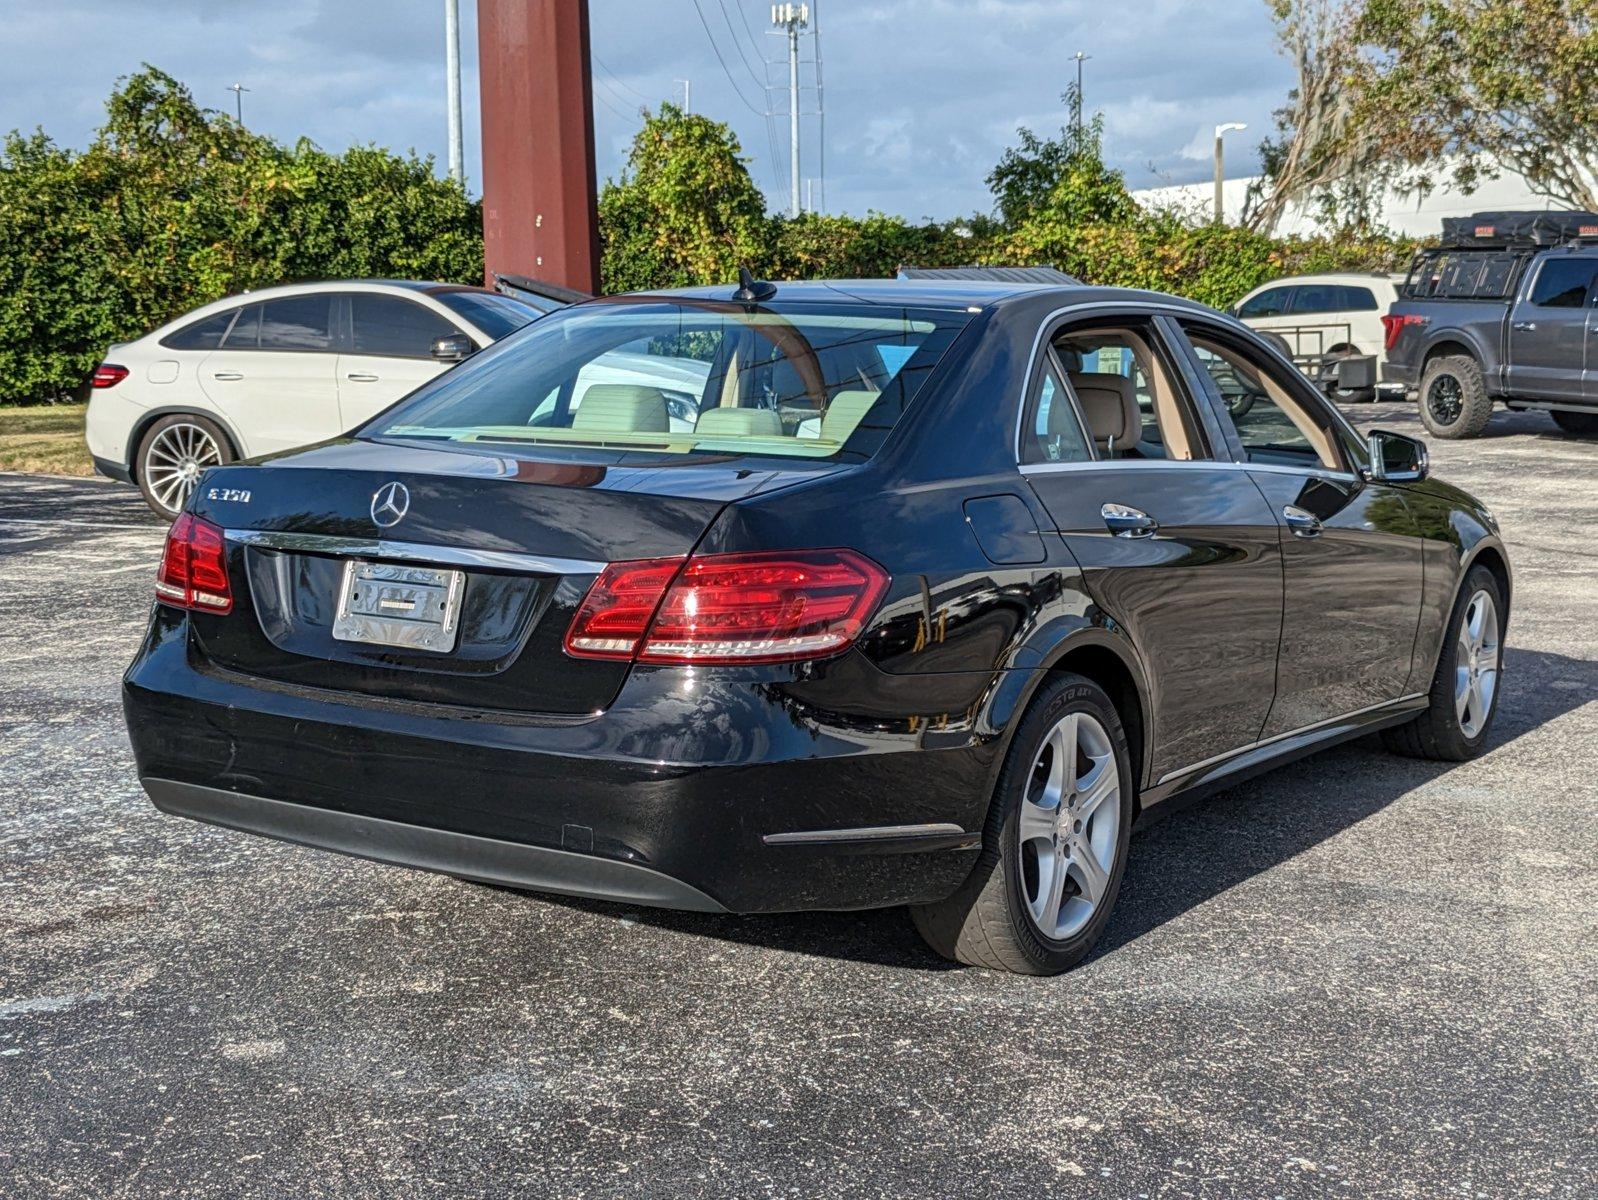
[[[1387, 353], [1382, 316], [1398, 299], [1403, 275], [1294, 275], [1254, 288], [1232, 310], [1264, 334], [1274, 334], [1301, 364], [1346, 355], [1371, 355], [1381, 379]], [[1341, 401], [1374, 399], [1374, 388], [1333, 393]]]

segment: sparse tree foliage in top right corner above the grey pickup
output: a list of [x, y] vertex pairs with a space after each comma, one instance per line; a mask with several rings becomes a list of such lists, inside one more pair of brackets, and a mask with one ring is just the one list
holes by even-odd
[[1598, 0], [1368, 0], [1358, 37], [1357, 120], [1403, 163], [1598, 209]]

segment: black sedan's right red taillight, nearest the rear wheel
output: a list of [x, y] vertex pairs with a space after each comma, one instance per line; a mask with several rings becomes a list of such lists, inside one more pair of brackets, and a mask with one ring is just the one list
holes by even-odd
[[887, 586], [888, 574], [852, 550], [612, 562], [577, 610], [566, 652], [642, 663], [825, 658], [853, 644]]

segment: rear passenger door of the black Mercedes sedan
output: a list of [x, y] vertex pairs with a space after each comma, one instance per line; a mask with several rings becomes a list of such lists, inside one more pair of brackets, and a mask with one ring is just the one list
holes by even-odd
[[[1023, 473], [1152, 690], [1149, 783], [1251, 745], [1275, 685], [1282, 550], [1146, 316], [1053, 331]], [[1061, 398], [1064, 398], [1061, 401]], [[1072, 433], [1080, 420], [1090, 438]]]

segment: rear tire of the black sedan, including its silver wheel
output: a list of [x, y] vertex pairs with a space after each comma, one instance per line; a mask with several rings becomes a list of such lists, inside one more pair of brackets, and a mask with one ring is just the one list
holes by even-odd
[[[1071, 759], [1058, 753], [1067, 745]], [[956, 962], [1069, 970], [1109, 920], [1131, 818], [1131, 753], [1115, 706], [1093, 681], [1061, 674], [1016, 730], [970, 877], [948, 900], [912, 906], [911, 919]]]

